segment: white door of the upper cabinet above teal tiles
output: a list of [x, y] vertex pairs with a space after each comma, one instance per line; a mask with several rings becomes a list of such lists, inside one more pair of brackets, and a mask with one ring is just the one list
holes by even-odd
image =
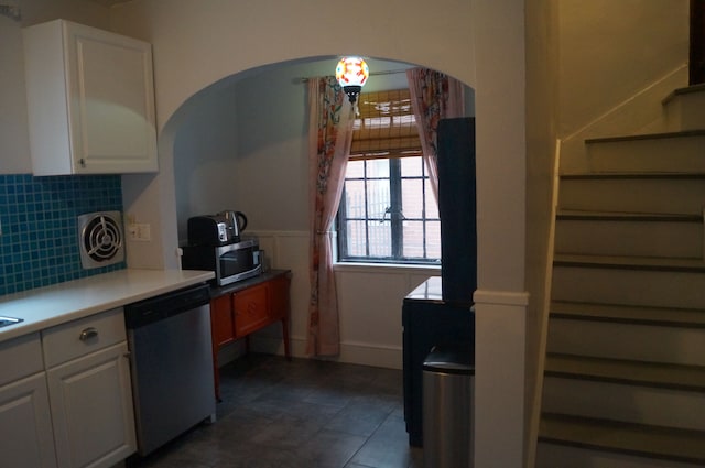
[[76, 173], [155, 171], [150, 44], [74, 23], [67, 35]]

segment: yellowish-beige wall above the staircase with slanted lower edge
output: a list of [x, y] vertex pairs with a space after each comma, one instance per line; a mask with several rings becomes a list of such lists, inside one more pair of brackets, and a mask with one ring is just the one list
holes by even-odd
[[562, 138], [687, 63], [688, 0], [557, 6]]

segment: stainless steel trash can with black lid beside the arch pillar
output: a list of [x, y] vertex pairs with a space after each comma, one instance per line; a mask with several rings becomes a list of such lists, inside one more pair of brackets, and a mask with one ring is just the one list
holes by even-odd
[[475, 359], [469, 345], [434, 347], [423, 362], [423, 466], [473, 467]]

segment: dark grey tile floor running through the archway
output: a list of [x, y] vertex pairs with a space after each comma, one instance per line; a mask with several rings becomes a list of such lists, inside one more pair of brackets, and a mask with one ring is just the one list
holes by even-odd
[[400, 370], [248, 355], [220, 370], [215, 424], [129, 467], [421, 468]]

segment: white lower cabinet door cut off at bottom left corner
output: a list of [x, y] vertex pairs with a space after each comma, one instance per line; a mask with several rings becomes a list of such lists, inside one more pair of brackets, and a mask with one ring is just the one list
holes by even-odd
[[56, 466], [44, 372], [0, 387], [0, 434], [1, 466]]

